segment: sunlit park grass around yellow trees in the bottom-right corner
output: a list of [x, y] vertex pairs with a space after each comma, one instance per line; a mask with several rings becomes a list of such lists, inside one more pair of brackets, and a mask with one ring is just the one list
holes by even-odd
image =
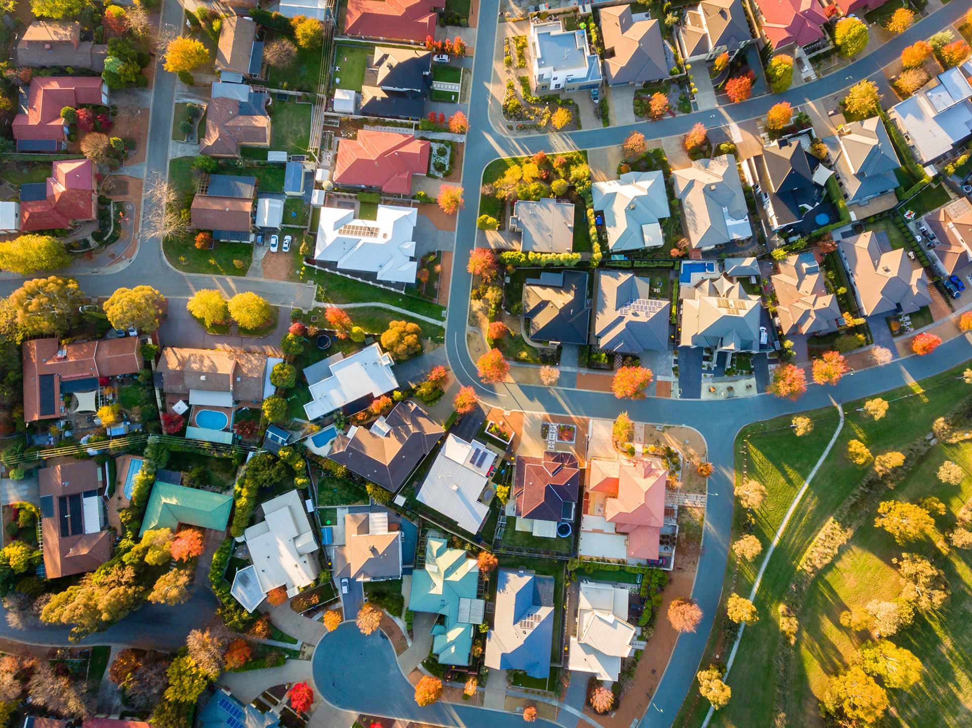
[[[946, 460], [966, 471], [965, 479], [957, 486], [943, 484], [936, 477], [936, 470]], [[944, 515], [934, 516], [936, 526], [942, 532], [948, 531], [955, 526], [957, 511], [972, 497], [969, 470], [972, 443], [936, 445], [883, 500], [915, 503], [925, 496], [935, 496], [947, 507]], [[940, 726], [969, 725], [972, 665], [968, 655], [972, 654], [972, 634], [966, 624], [972, 611], [972, 569], [967, 556], [963, 558], [963, 553], [968, 552], [953, 550], [943, 556], [927, 537], [902, 547], [884, 529], [875, 527], [871, 518], [857, 530], [834, 563], [817, 576], [799, 615], [802, 630], [797, 668], [802, 673], [799, 684], [804, 688], [804, 703], [821, 693], [826, 677], [842, 663], [848, 663], [864, 641], [864, 633], [852, 634], [840, 625], [840, 612], [863, 607], [872, 599], [889, 601], [898, 596], [900, 584], [891, 559], [902, 551], [919, 553], [943, 569], [952, 597], [936, 612], [917, 615], [911, 627], [894, 636], [897, 645], [910, 649], [921, 660], [924, 675], [911, 690], [887, 690], [891, 714], [885, 725], [919, 725], [928, 715], [935, 715], [935, 723]], [[794, 711], [799, 711], [799, 706], [794, 705]], [[787, 711], [787, 715], [792, 712]]]

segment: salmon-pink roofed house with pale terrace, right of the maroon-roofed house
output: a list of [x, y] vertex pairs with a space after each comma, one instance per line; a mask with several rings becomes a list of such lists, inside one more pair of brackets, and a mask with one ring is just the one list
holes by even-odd
[[621, 561], [655, 561], [665, 526], [668, 468], [658, 458], [588, 464], [580, 554]]

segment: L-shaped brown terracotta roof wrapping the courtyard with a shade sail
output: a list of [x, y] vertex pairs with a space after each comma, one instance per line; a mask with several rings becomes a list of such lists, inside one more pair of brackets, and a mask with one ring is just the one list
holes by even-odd
[[[112, 377], [135, 374], [143, 365], [142, 349], [136, 336], [118, 339], [101, 339], [67, 344], [58, 357], [56, 338], [24, 341], [23, 356], [23, 418], [26, 422], [46, 420], [60, 416], [61, 380], [86, 377]], [[42, 376], [53, 375], [50, 380]], [[41, 387], [53, 387], [54, 411], [41, 412]]]

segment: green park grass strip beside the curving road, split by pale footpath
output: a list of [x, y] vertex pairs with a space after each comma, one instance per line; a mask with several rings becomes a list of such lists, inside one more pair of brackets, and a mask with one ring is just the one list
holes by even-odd
[[[746, 627], [733, 671], [726, 679], [732, 688], [733, 699], [728, 706], [715, 712], [710, 725], [723, 728], [773, 725], [779, 679], [777, 658], [784, 648], [777, 607], [816, 533], [868, 472], [867, 468], [855, 468], [844, 457], [848, 442], [854, 438], [860, 439], [875, 455], [887, 450], [904, 449], [907, 444], [928, 433], [932, 422], [952, 410], [962, 397], [972, 395], [972, 387], [961, 380], [963, 368], [964, 364], [911, 386], [882, 394], [881, 397], [890, 402], [890, 408], [885, 418], [878, 422], [867, 420], [863, 412], [856, 411], [865, 399], [844, 404], [844, 429], [797, 506], [763, 574], [754, 601], [760, 621]], [[764, 554], [780, 527], [786, 509], [837, 427], [835, 408], [805, 414], [814, 420], [815, 427], [812, 433], [804, 437], [797, 437], [789, 430], [792, 418], [787, 415], [750, 425], [736, 439], [736, 482], [755, 479], [767, 490], [765, 502], [753, 514], [755, 524], [752, 528], [753, 535], [763, 544]], [[746, 533], [745, 515], [744, 509], [737, 504], [732, 540]], [[703, 668], [711, 662], [724, 663], [728, 658], [731, 640], [720, 627], [725, 614], [725, 599], [733, 592], [748, 597], [761, 560], [762, 554], [753, 564], [744, 562], [737, 566], [735, 557], [730, 553], [722, 604], [719, 605], [702, 660]], [[699, 726], [708, 708], [709, 703], [699, 697], [698, 685], [693, 684], [674, 725], [685, 728]], [[818, 724], [815, 715], [816, 702], [813, 712], [807, 717]], [[796, 723], [796, 717], [787, 716], [787, 724], [803, 724], [802, 721]]]

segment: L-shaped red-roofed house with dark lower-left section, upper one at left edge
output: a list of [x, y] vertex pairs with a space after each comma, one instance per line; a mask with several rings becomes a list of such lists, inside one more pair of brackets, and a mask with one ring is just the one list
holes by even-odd
[[59, 152], [67, 148], [65, 106], [108, 105], [108, 85], [100, 76], [45, 76], [30, 82], [27, 103], [12, 126], [17, 152]]

